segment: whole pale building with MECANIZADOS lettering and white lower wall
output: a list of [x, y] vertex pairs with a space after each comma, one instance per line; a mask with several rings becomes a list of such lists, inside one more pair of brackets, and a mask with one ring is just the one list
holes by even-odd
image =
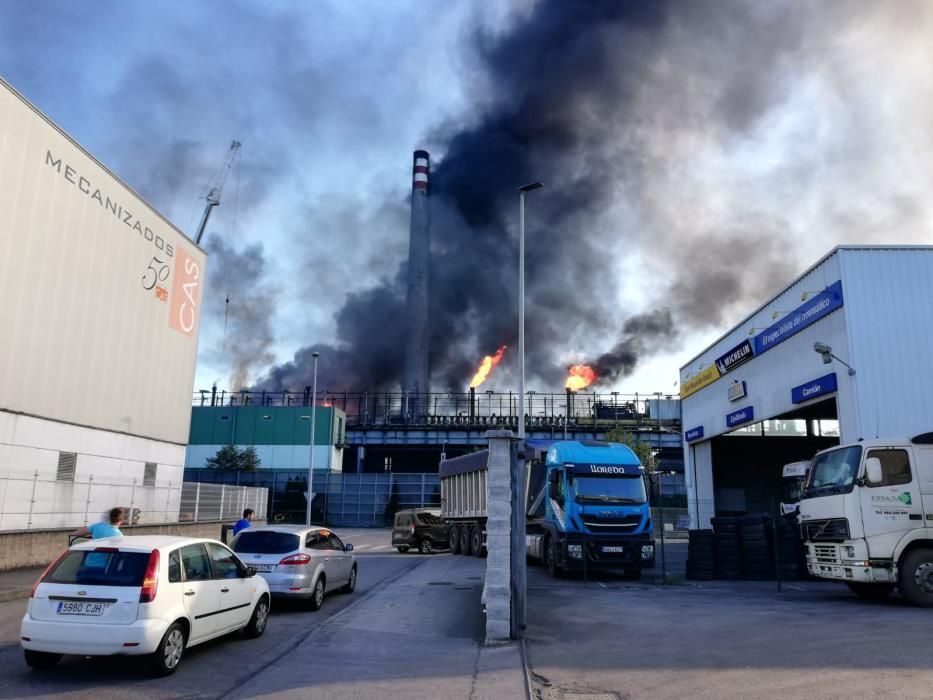
[[0, 80], [0, 529], [177, 520], [204, 265]]

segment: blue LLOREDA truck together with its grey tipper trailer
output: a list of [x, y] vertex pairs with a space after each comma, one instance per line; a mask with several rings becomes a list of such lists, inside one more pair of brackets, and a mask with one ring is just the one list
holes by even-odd
[[[534, 443], [534, 441], [529, 441]], [[620, 569], [638, 579], [654, 566], [647, 475], [625, 445], [558, 441], [526, 445], [528, 557], [552, 576], [567, 571]], [[441, 514], [454, 553], [485, 549], [487, 455], [441, 463]]]

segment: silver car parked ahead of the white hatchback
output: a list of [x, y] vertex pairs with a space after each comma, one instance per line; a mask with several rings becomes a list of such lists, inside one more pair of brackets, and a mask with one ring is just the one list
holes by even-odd
[[312, 610], [332, 591], [352, 593], [357, 564], [353, 545], [332, 530], [307, 525], [263, 525], [241, 530], [233, 551], [266, 579], [273, 596], [301, 598]]

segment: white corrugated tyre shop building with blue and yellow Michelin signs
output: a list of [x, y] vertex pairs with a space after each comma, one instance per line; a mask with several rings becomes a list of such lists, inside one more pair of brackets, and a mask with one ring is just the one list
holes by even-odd
[[680, 370], [693, 527], [774, 512], [782, 466], [933, 430], [933, 247], [840, 246]]

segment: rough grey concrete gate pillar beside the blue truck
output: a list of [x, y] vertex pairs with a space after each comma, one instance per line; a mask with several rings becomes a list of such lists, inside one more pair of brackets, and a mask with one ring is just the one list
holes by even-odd
[[512, 638], [512, 458], [511, 430], [490, 430], [486, 474], [486, 644], [505, 644]]

